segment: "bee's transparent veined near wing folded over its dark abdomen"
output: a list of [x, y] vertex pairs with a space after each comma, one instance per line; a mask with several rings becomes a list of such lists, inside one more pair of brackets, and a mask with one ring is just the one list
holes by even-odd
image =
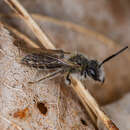
[[50, 55], [46, 53], [28, 54], [22, 59], [22, 63], [40, 69], [79, 67], [69, 62], [64, 57], [58, 57], [57, 55]]

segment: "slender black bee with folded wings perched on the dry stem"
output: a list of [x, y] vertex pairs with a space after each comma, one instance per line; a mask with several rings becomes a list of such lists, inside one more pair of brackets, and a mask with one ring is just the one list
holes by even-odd
[[[54, 70], [52, 73], [48, 74], [42, 79], [31, 83], [36, 83], [41, 80], [53, 78], [58, 74], [66, 74], [66, 80], [71, 83], [69, 76], [72, 73], [78, 73], [85, 78], [89, 76], [93, 80], [103, 83], [105, 77], [102, 70], [102, 65], [113, 57], [117, 56], [119, 53], [126, 50], [127, 48], [128, 46], [124, 47], [123, 49], [109, 56], [102, 62], [88, 59], [81, 54], [72, 55], [70, 52], [64, 52], [63, 50], [40, 50], [37, 53], [26, 55], [22, 59], [22, 63], [43, 70]], [[68, 58], [66, 57], [66, 55], [68, 55]]]

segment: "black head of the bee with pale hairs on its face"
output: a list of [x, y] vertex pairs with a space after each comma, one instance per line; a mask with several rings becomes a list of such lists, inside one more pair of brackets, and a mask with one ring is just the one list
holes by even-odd
[[97, 60], [90, 60], [85, 69], [87, 75], [95, 81], [104, 82], [104, 71]]

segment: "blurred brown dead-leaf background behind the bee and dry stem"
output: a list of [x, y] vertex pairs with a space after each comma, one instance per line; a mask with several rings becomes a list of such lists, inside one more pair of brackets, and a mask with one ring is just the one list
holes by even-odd
[[[103, 60], [130, 45], [129, 0], [19, 0], [57, 48]], [[0, 20], [37, 41], [26, 25], [0, 0]], [[13, 18], [12, 18], [13, 17]], [[104, 65], [103, 85], [84, 81], [121, 130], [130, 129], [130, 51]]]

